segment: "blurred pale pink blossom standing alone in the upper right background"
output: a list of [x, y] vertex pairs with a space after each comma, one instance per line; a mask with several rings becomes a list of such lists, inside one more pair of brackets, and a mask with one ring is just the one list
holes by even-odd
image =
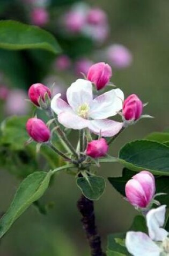
[[133, 60], [131, 52], [123, 45], [118, 44], [109, 46], [106, 56], [107, 61], [115, 68], [128, 67]]

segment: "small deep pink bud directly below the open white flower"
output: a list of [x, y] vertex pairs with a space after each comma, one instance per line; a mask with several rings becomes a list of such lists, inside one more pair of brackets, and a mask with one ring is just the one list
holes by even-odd
[[105, 139], [93, 140], [87, 144], [86, 155], [93, 158], [105, 156], [108, 151], [108, 145]]

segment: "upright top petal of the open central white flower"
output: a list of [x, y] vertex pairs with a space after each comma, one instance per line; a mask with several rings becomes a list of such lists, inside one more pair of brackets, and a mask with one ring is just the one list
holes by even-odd
[[77, 79], [67, 90], [68, 103], [75, 112], [84, 103], [90, 105], [92, 99], [92, 83], [85, 79]]

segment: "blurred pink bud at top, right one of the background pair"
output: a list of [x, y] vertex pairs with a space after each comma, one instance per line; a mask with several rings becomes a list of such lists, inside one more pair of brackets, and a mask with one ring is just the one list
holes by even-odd
[[89, 10], [86, 19], [87, 22], [92, 25], [100, 25], [107, 22], [106, 13], [99, 8]]

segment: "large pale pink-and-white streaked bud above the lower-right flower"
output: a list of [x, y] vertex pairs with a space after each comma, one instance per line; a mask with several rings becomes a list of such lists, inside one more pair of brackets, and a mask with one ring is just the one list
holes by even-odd
[[149, 171], [141, 171], [126, 183], [126, 197], [130, 204], [145, 208], [155, 195], [155, 178]]

